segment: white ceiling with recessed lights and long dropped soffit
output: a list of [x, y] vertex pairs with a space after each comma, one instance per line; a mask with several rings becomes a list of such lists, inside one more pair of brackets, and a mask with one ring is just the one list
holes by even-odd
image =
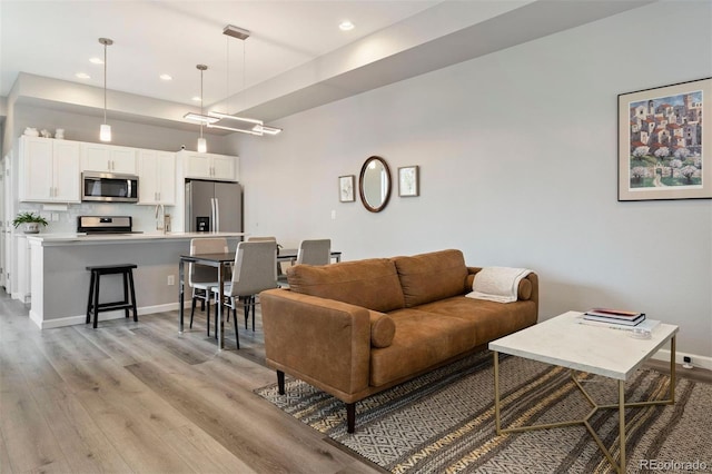
[[[206, 108], [275, 120], [650, 1], [0, 0], [0, 96], [24, 73], [100, 97], [103, 66], [89, 59], [103, 57], [98, 39], [106, 37], [113, 40], [107, 87], [123, 95], [109, 105], [118, 113], [189, 125], [182, 115], [199, 107], [196, 65], [205, 63]], [[344, 20], [355, 28], [339, 30]], [[227, 24], [251, 34], [227, 37]], [[164, 73], [172, 80], [161, 80]], [[47, 83], [22, 93], [88, 113], [103, 106], [75, 101], [78, 93], [48, 99]], [[155, 100], [150, 108], [132, 106], [136, 96]], [[159, 101], [170, 107], [159, 111]]]

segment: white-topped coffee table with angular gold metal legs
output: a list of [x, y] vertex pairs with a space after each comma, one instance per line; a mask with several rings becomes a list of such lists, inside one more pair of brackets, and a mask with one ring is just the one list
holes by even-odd
[[[678, 326], [659, 324], [650, 339], [631, 337], [630, 330], [578, 324], [582, 313], [568, 312], [490, 343], [494, 352], [494, 407], [497, 435], [530, 429], [584, 425], [596, 444], [620, 472], [625, 473], [625, 408], [675, 403], [675, 335]], [[668, 399], [625, 403], [625, 381], [670, 340], [670, 396]], [[500, 353], [538, 361], [572, 369], [572, 379], [589, 399], [592, 411], [583, 419], [503, 428], [500, 418]], [[619, 403], [597, 405], [574, 377], [573, 371], [587, 372], [619, 381]], [[620, 462], [603, 445], [589, 419], [599, 409], [619, 409]]]

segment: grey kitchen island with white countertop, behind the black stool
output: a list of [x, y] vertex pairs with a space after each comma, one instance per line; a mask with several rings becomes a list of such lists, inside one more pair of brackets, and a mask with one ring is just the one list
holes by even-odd
[[[178, 263], [190, 239], [226, 237], [230, 250], [244, 233], [39, 234], [28, 236], [31, 260], [30, 318], [41, 329], [85, 324], [89, 295], [88, 265], [136, 264], [139, 315], [178, 309]], [[102, 278], [100, 300], [123, 295], [120, 277]], [[123, 310], [100, 319], [122, 318]], [[140, 318], [139, 318], [140, 322]]]

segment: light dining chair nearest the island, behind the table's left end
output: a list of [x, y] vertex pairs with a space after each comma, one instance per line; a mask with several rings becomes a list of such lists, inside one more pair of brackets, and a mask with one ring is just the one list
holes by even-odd
[[[225, 237], [190, 239], [190, 255], [222, 254], [226, 251], [228, 251], [228, 246], [227, 239]], [[192, 288], [192, 303], [190, 305], [190, 328], [192, 328], [192, 316], [196, 313], [196, 302], [200, 299], [201, 307], [205, 307], [207, 304], [206, 327], [209, 336], [210, 288], [218, 286], [217, 268], [200, 264], [189, 264], [188, 285]]]

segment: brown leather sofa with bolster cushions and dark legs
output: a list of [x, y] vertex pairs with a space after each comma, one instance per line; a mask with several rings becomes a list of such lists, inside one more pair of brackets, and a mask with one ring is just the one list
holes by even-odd
[[359, 399], [536, 323], [536, 274], [502, 304], [465, 297], [479, 270], [459, 250], [289, 268], [289, 290], [260, 294], [279, 393], [286, 373], [334, 395], [353, 433]]

